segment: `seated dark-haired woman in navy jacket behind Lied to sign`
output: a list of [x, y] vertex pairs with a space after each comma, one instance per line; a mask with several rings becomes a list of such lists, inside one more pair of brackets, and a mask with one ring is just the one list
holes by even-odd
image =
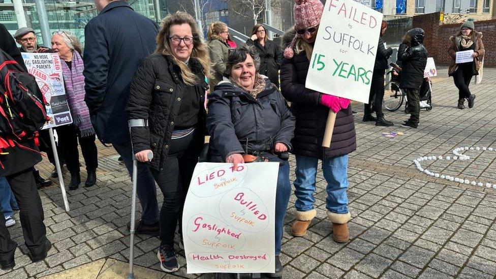
[[245, 163], [242, 154], [280, 162], [275, 195], [275, 273], [281, 277], [279, 259], [284, 216], [291, 195], [289, 163], [276, 154], [291, 149], [295, 118], [286, 100], [268, 78], [259, 73], [255, 47], [237, 47], [229, 53], [224, 80], [208, 99], [207, 129], [210, 162]]

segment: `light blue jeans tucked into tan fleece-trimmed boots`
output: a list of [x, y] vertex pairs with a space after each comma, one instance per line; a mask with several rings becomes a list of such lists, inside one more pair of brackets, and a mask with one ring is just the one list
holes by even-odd
[[[319, 159], [296, 155], [296, 179], [294, 181], [296, 210], [314, 209], [314, 193]], [[327, 210], [348, 213], [348, 155], [336, 156], [322, 161], [324, 178], [327, 181]]]

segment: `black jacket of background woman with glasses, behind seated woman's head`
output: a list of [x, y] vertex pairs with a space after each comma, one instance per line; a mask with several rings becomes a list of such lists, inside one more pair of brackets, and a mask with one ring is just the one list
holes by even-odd
[[252, 39], [248, 39], [246, 44], [257, 48], [260, 56], [260, 74], [267, 76], [273, 84], [279, 87], [279, 70], [283, 59], [281, 48], [270, 40], [265, 41], [265, 46], [262, 46], [258, 40], [254, 42]]

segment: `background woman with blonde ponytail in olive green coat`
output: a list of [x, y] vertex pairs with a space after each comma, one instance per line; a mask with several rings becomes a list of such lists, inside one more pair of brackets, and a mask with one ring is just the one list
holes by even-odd
[[209, 84], [212, 89], [222, 81], [222, 76], [226, 71], [229, 52], [229, 46], [226, 43], [228, 36], [229, 30], [224, 22], [214, 22], [208, 27], [208, 47], [210, 49], [210, 60], [212, 61], [212, 77]]

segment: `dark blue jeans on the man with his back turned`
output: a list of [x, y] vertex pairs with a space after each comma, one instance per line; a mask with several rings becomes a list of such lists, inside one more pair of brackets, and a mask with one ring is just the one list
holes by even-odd
[[[128, 169], [129, 175], [133, 176], [133, 149], [131, 147], [131, 139], [124, 143], [112, 144], [122, 157], [122, 161]], [[159, 222], [159, 205], [157, 203], [157, 188], [155, 180], [151, 175], [148, 165], [138, 162], [138, 185], [136, 194], [141, 203], [141, 221], [147, 225]]]

